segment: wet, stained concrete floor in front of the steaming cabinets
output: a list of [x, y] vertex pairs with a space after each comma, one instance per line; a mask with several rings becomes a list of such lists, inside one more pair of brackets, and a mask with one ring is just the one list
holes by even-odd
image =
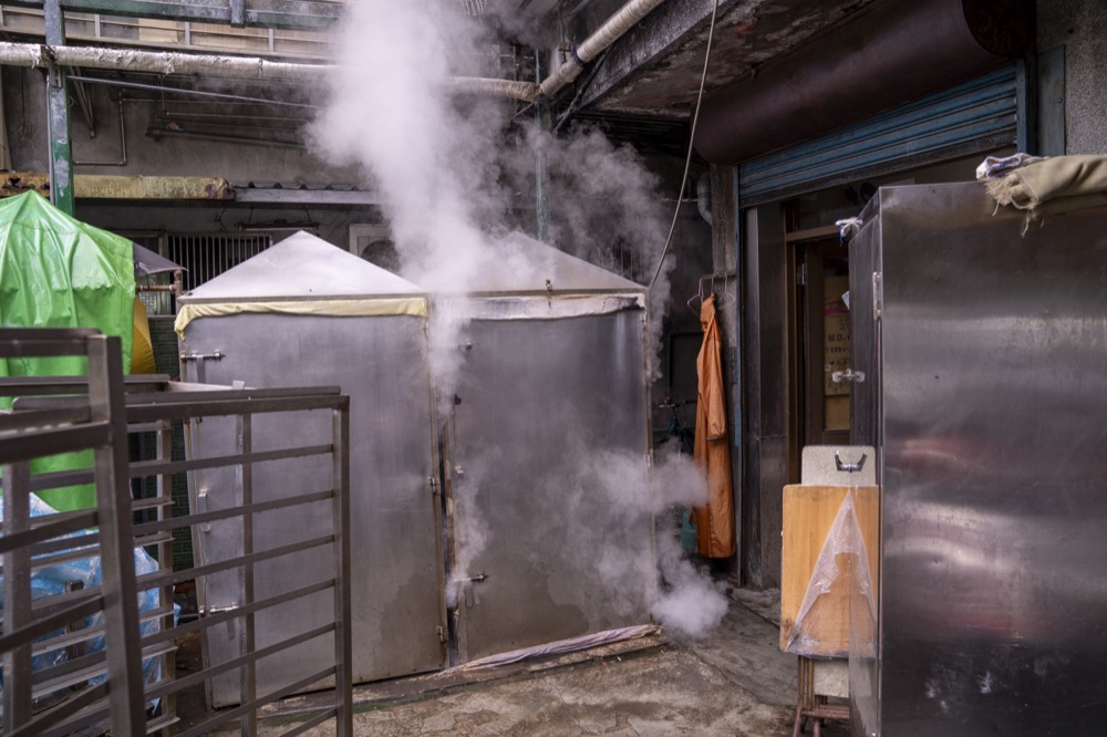
[[[792, 735], [796, 658], [778, 647], [779, 592], [734, 591], [706, 639], [664, 633], [474, 673], [359, 686], [356, 735]], [[282, 702], [259, 734], [279, 735], [325, 695]], [[303, 734], [332, 735], [333, 724]], [[808, 727], [807, 733], [810, 734]], [[228, 731], [228, 734], [231, 734]], [[824, 735], [847, 735], [840, 725]]]

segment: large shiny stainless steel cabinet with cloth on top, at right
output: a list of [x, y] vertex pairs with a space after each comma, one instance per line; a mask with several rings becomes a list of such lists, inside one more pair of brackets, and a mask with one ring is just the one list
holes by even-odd
[[1107, 208], [1024, 236], [995, 209], [882, 188], [850, 243], [851, 440], [881, 488], [857, 736], [1103, 731]]

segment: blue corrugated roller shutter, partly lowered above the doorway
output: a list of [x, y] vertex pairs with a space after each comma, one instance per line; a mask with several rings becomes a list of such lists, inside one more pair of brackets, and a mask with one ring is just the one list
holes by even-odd
[[738, 167], [742, 206], [1014, 145], [1015, 65]]

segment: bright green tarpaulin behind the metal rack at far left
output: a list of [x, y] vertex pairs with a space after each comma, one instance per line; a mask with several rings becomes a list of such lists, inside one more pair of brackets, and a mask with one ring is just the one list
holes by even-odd
[[[71, 218], [33, 191], [0, 200], [0, 326], [95, 328], [122, 339], [123, 365], [130, 366], [133, 259], [130, 240]], [[0, 376], [85, 373], [84, 359], [0, 359]], [[87, 451], [42, 459], [32, 470], [91, 466]], [[87, 486], [40, 496], [61, 511], [96, 504]]]

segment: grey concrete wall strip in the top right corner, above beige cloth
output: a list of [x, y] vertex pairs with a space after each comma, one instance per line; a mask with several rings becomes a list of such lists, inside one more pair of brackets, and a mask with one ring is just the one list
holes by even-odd
[[1065, 153], [1107, 153], [1107, 4], [1038, 0], [1037, 22], [1038, 51], [1065, 50]]

